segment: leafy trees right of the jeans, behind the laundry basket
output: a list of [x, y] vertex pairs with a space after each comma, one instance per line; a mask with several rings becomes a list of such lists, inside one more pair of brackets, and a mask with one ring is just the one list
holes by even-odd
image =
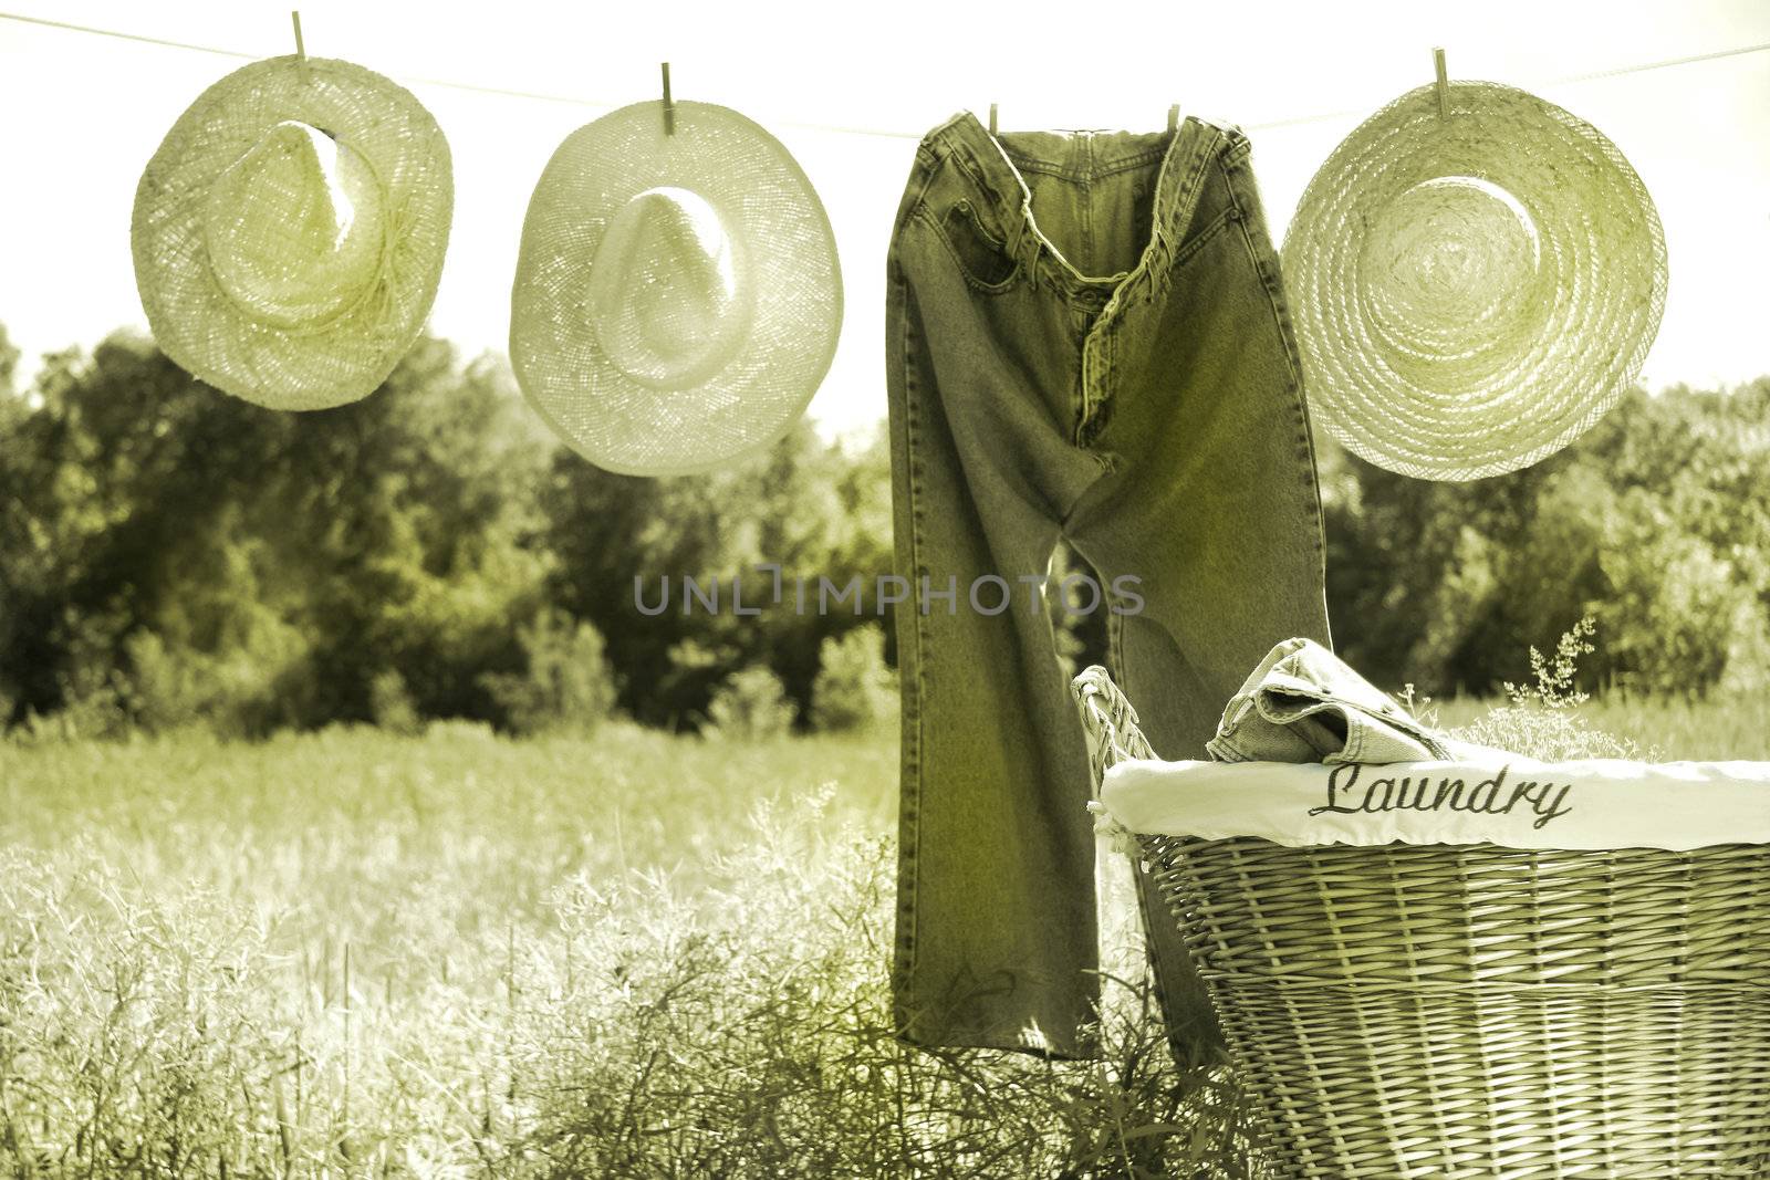
[[1549, 460], [1466, 485], [1326, 448], [1336, 644], [1377, 679], [1490, 692], [1591, 614], [1598, 679], [1747, 688], [1770, 653], [1770, 379], [1635, 389]]

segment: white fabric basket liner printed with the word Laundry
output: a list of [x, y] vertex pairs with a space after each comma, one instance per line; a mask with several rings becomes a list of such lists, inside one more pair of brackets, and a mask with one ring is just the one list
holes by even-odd
[[1542, 849], [1770, 844], [1770, 762], [1163, 762], [1106, 770], [1099, 808], [1142, 835]]

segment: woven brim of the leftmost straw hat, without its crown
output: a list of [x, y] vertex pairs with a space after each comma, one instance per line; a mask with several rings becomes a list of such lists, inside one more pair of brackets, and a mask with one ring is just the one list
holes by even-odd
[[[258, 405], [315, 410], [373, 393], [423, 331], [453, 214], [448, 142], [416, 97], [329, 58], [253, 62], [209, 87], [166, 133], [136, 188], [131, 244], [142, 308], [161, 350], [211, 386]], [[211, 186], [280, 122], [349, 145], [381, 182], [381, 274], [312, 329], [248, 315], [218, 285], [204, 241]]]

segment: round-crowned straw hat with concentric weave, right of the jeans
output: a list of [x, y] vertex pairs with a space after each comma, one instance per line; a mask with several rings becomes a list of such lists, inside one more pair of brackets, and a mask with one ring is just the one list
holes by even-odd
[[1356, 455], [1476, 479], [1621, 396], [1666, 303], [1641, 179], [1586, 122], [1485, 81], [1372, 115], [1310, 180], [1285, 288], [1317, 419]]

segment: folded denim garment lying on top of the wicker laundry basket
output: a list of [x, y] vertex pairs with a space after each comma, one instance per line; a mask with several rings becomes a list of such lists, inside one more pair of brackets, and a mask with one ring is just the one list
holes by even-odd
[[1273, 647], [1223, 709], [1218, 762], [1428, 762], [1494, 754], [1423, 725], [1312, 639]]

